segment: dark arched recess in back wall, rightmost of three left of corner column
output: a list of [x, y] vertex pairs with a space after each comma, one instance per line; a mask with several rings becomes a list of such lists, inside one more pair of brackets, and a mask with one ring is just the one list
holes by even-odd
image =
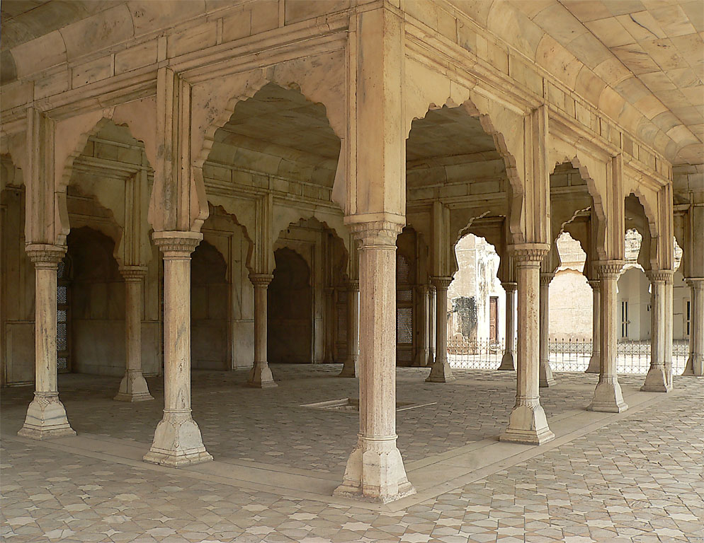
[[267, 352], [271, 363], [312, 361], [312, 288], [305, 259], [283, 247], [267, 291]]

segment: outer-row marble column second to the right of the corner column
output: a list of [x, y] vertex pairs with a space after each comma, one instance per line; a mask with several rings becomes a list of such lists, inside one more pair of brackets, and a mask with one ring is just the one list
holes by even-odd
[[597, 265], [601, 282], [601, 366], [599, 380], [594, 390], [594, 398], [589, 404], [590, 411], [620, 413], [628, 409], [623, 401], [621, 387], [616, 374], [618, 359], [618, 308], [616, 307], [616, 281], [623, 262], [610, 260]]

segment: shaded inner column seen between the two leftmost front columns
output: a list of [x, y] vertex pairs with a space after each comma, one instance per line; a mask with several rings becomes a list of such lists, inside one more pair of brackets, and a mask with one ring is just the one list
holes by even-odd
[[142, 375], [142, 281], [147, 268], [125, 266], [125, 377], [114, 399], [120, 402], [144, 402], [154, 399]]

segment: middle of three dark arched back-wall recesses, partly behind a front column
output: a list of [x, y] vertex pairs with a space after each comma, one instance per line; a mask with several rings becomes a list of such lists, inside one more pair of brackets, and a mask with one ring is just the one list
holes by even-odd
[[229, 369], [227, 262], [206, 240], [191, 255], [191, 368]]

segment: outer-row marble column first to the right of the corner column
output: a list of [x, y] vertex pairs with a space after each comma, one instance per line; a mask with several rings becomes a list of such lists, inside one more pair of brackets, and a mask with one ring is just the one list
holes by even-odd
[[518, 282], [518, 345], [516, 349], [516, 404], [501, 441], [540, 445], [555, 438], [540, 405], [540, 262], [548, 246], [542, 243], [509, 245]]

